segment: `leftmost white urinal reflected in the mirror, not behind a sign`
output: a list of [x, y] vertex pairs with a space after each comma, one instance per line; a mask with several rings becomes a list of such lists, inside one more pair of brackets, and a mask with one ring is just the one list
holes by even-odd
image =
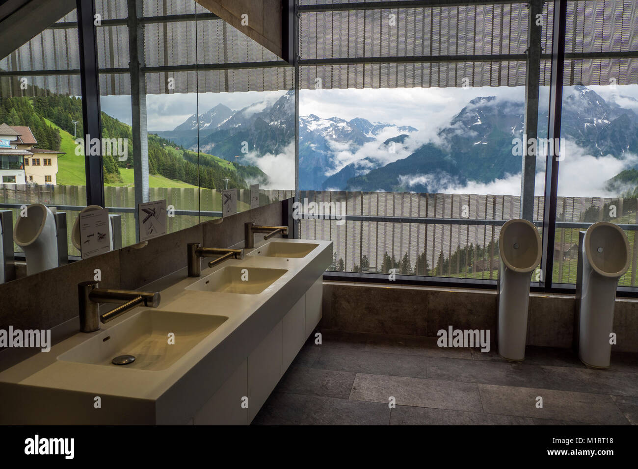
[[57, 229], [53, 212], [42, 204], [27, 207], [27, 216], [19, 216], [13, 230], [15, 244], [27, 258], [27, 275], [57, 267]]

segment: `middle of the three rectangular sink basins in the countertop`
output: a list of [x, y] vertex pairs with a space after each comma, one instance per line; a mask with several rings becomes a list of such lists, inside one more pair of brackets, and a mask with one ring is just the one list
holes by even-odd
[[286, 272], [288, 271], [285, 269], [228, 266], [196, 281], [186, 287], [186, 290], [256, 295]]

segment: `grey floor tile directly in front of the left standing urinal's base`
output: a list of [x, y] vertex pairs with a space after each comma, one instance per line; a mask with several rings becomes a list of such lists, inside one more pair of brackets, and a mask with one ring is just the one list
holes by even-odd
[[542, 368], [514, 362], [430, 359], [427, 377], [501, 386], [544, 387]]

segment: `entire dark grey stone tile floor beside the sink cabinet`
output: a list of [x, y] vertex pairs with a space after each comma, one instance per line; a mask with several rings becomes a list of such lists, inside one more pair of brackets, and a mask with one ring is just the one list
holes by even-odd
[[638, 354], [594, 370], [558, 348], [528, 347], [512, 363], [436, 338], [320, 332], [322, 345], [311, 335], [253, 424], [638, 424]]

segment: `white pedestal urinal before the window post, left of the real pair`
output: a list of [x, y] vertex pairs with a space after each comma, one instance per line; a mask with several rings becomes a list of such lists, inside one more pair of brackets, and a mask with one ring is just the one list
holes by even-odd
[[523, 361], [531, 272], [542, 253], [537, 228], [527, 220], [507, 221], [501, 227], [498, 251], [498, 354], [506, 360]]

